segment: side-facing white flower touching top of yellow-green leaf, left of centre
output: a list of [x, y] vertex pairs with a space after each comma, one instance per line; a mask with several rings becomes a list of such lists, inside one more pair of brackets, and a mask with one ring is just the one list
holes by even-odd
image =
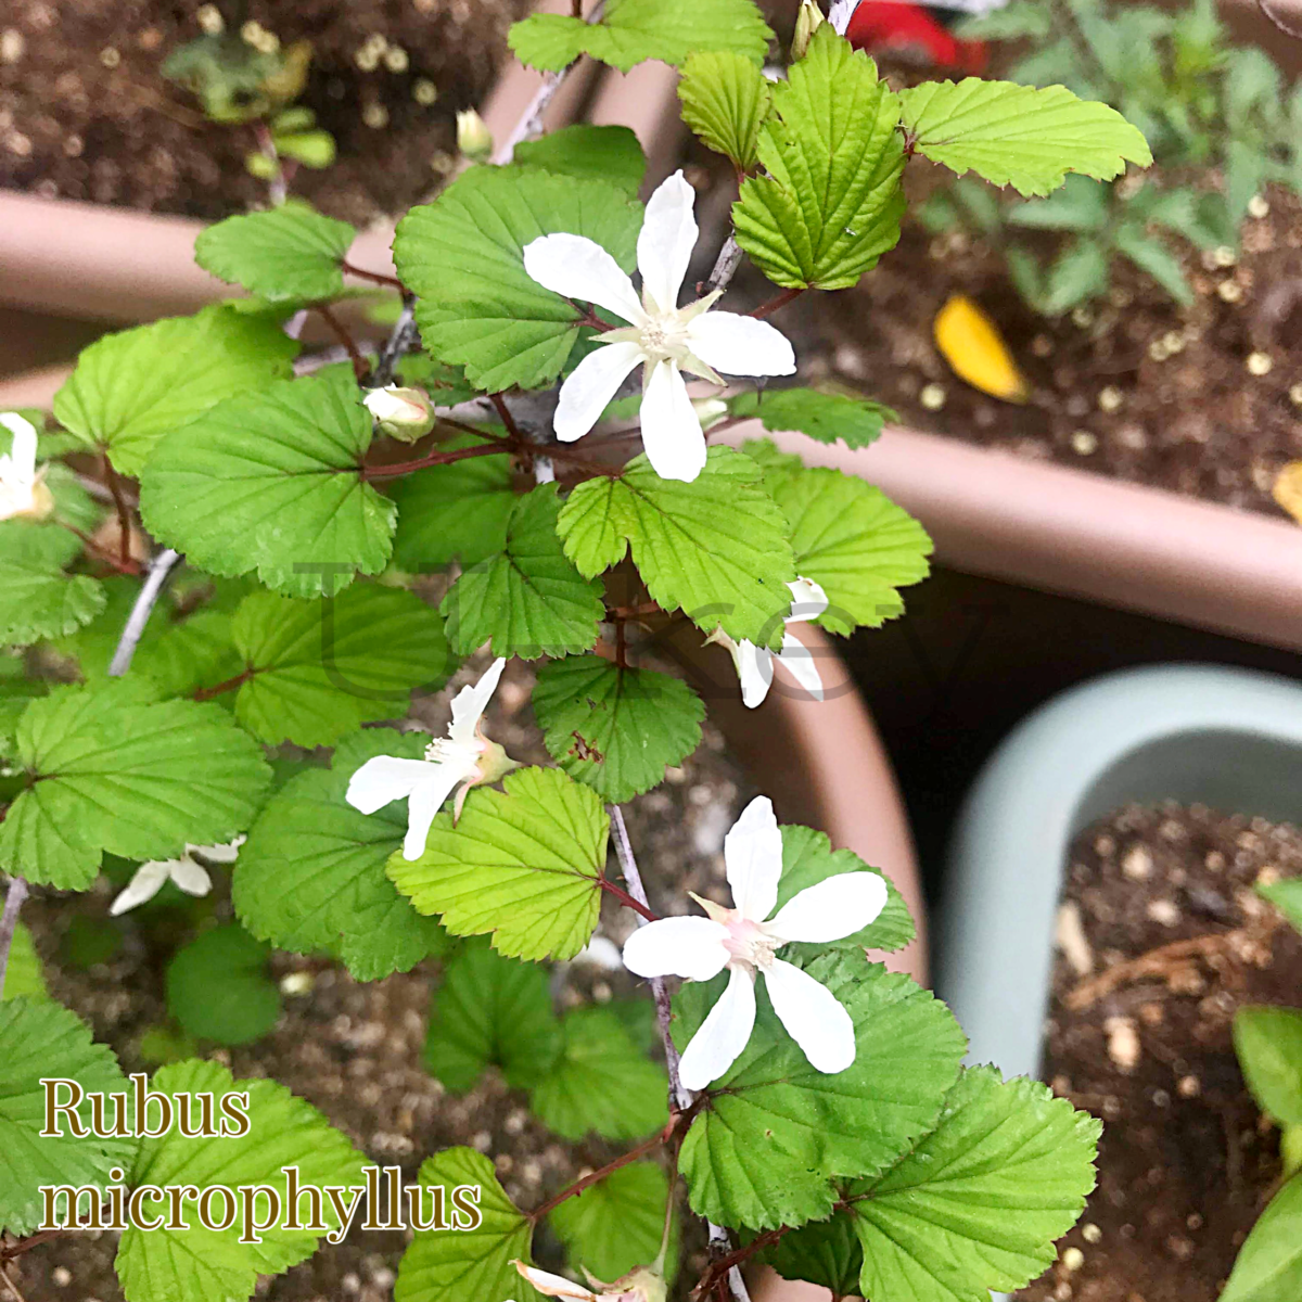
[[505, 659], [499, 656], [487, 673], [474, 685], [462, 687], [452, 702], [448, 736], [439, 737], [424, 749], [424, 759], [401, 759], [376, 755], [368, 759], [349, 780], [348, 803], [363, 814], [374, 814], [391, 801], [408, 802], [408, 835], [402, 842], [404, 859], [419, 859], [430, 824], [454, 786], [457, 801], [453, 818], [471, 786], [496, 783], [519, 766], [483, 734], [480, 720], [488, 708]]

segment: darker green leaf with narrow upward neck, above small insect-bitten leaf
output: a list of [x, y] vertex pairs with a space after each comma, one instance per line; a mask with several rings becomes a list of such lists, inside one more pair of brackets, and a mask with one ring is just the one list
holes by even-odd
[[469, 655], [491, 641], [493, 655], [536, 660], [596, 642], [605, 609], [602, 585], [566, 560], [556, 536], [559, 514], [555, 484], [517, 499], [505, 548], [452, 586], [440, 609], [458, 652]]

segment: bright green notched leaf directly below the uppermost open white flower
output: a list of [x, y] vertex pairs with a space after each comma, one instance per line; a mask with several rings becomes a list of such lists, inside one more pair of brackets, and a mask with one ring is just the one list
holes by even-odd
[[691, 483], [661, 479], [637, 456], [620, 478], [579, 484], [557, 530], [583, 574], [617, 565], [631, 548], [664, 609], [763, 646], [781, 637], [796, 578], [786, 521], [755, 464], [732, 448], [711, 448]]

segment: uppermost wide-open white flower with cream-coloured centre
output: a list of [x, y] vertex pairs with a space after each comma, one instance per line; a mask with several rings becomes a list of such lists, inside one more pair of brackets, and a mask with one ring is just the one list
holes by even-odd
[[695, 191], [676, 172], [651, 195], [638, 236], [642, 301], [633, 281], [595, 241], [542, 236], [525, 247], [525, 271], [553, 293], [595, 303], [629, 322], [596, 339], [595, 349], [561, 385], [556, 437], [581, 439], [596, 424], [625, 376], [642, 374], [642, 444], [663, 479], [689, 483], [706, 464], [706, 436], [682, 371], [723, 384], [729, 375], [793, 375], [796, 354], [767, 322], [712, 312], [721, 290], [686, 307], [678, 294], [697, 243]]

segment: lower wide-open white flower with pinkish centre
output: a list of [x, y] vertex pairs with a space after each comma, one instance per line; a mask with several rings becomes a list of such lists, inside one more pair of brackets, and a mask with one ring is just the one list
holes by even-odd
[[703, 1090], [746, 1048], [755, 1025], [756, 973], [763, 973], [773, 1012], [814, 1069], [844, 1072], [854, 1061], [850, 1014], [825, 986], [775, 953], [793, 940], [840, 940], [866, 927], [885, 907], [884, 879], [875, 872], [827, 878], [769, 919], [783, 872], [783, 833], [766, 796], [746, 806], [724, 838], [724, 863], [736, 909], [693, 896], [708, 918], [661, 918], [624, 943], [624, 965], [639, 976], [710, 980], [725, 967], [732, 973], [682, 1055], [684, 1086]]

